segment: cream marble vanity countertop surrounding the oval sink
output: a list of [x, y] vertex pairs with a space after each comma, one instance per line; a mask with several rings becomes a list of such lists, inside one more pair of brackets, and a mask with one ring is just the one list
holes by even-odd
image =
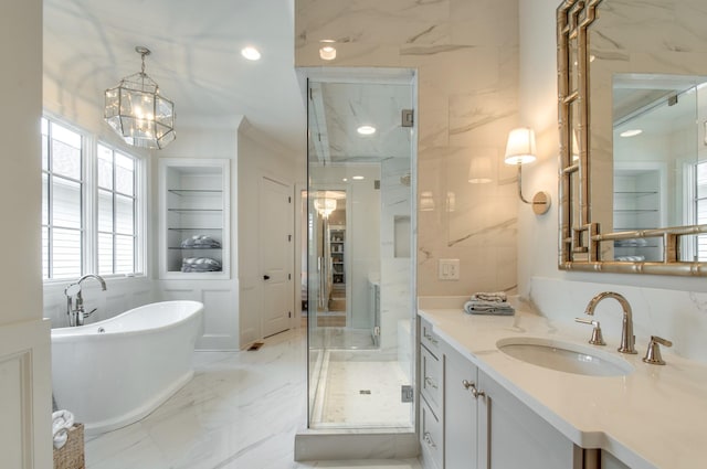
[[[469, 316], [461, 306], [420, 303], [420, 316], [479, 370], [583, 448], [601, 448], [631, 468], [695, 468], [707, 445], [707, 366], [662, 348], [666, 365], [642, 358], [647, 338], [636, 338], [635, 355], [616, 352], [619, 337], [589, 345], [591, 326], [551, 321], [523, 306], [513, 317]], [[560, 340], [625, 360], [626, 376], [584, 376], [521, 362], [498, 350], [499, 339]]]

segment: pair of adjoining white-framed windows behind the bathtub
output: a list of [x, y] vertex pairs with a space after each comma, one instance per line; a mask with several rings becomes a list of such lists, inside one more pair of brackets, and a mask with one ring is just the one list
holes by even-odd
[[141, 160], [42, 119], [43, 278], [143, 271]]

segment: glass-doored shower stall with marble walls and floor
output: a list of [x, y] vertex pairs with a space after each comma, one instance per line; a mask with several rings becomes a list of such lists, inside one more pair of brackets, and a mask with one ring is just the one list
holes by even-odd
[[413, 426], [414, 78], [408, 70], [309, 74], [312, 429]]

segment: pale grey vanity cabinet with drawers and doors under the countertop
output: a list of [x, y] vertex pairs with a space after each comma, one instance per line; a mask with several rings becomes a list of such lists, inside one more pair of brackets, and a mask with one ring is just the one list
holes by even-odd
[[[423, 335], [425, 327], [429, 338]], [[425, 469], [583, 468], [581, 448], [478, 370], [473, 360], [442, 341], [422, 318], [420, 330], [421, 445]], [[436, 355], [424, 345], [432, 342], [430, 338], [436, 340]], [[442, 365], [443, 380], [437, 390], [443, 398], [436, 405], [424, 384], [431, 376], [430, 355]], [[442, 428], [442, 440], [431, 430], [431, 413], [434, 424]]]

